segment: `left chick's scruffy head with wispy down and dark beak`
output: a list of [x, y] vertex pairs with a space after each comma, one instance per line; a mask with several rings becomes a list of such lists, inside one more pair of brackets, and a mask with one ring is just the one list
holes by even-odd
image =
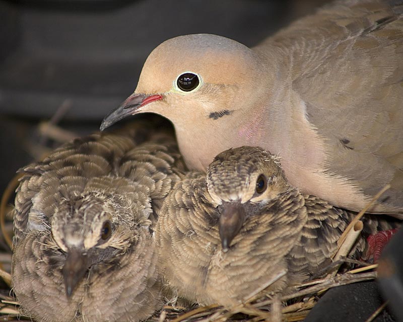
[[51, 218], [52, 237], [65, 254], [62, 274], [68, 297], [93, 265], [112, 263], [133, 243], [136, 230], [148, 224], [149, 205], [137, 205], [138, 196], [124, 193], [130, 188], [125, 180], [103, 180], [90, 181], [87, 191], [63, 199]]

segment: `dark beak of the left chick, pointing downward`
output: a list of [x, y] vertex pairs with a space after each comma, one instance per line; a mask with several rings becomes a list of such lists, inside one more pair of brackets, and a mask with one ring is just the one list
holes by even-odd
[[63, 266], [63, 278], [67, 297], [71, 297], [88, 269], [88, 256], [80, 250], [70, 249]]

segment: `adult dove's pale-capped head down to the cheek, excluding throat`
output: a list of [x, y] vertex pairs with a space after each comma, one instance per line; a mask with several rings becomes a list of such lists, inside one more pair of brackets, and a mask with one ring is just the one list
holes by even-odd
[[[147, 58], [136, 91], [103, 121], [101, 129], [140, 112], [153, 112], [175, 125], [228, 116], [245, 95], [264, 82], [252, 50], [225, 37], [196, 34], [169, 39]], [[246, 91], [245, 91], [246, 90]]]

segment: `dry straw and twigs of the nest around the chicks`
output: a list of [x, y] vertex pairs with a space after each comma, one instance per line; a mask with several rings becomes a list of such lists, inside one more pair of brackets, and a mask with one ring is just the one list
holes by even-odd
[[[52, 139], [60, 142], [68, 141], [72, 137], [72, 133], [66, 132], [53, 124], [40, 124], [39, 131], [50, 135]], [[35, 149], [37, 151], [37, 149]], [[46, 148], [42, 147], [42, 153], [46, 153]], [[36, 155], [38, 157], [38, 155]], [[0, 320], [18, 321], [31, 320], [29, 316], [25, 316], [23, 310], [19, 309], [19, 303], [13, 297], [11, 285], [11, 234], [12, 234], [12, 218], [6, 218], [11, 211], [11, 207], [7, 203], [13, 196], [14, 190], [18, 185], [19, 175], [12, 179], [6, 191], [3, 194], [0, 205], [0, 225], [3, 238], [6, 242], [3, 243], [3, 252], [0, 252], [0, 277], [4, 283], [0, 284]], [[385, 187], [375, 196], [375, 202], [379, 196], [387, 190]], [[372, 202], [372, 203], [373, 203]], [[363, 228], [360, 218], [365, 213], [372, 203], [367, 208], [363, 209], [355, 219], [346, 228], [346, 231], [339, 240], [339, 251], [334, 255], [333, 263], [325, 271], [318, 272], [318, 276], [324, 278], [312, 279], [300, 285], [292, 286], [286, 289], [282, 294], [265, 293], [264, 288], [272, 284], [276, 280], [268, 281], [260, 289], [257, 289], [248, 298], [233, 306], [224, 308], [219, 305], [198, 306], [193, 305], [190, 308], [180, 306], [165, 305], [159, 312], [155, 313], [149, 320], [153, 322], [207, 322], [207, 321], [227, 321], [241, 319], [243, 321], [262, 321], [270, 320], [274, 322], [280, 321], [301, 321], [307, 316], [309, 311], [318, 302], [318, 299], [328, 290], [333, 287], [348, 285], [352, 283], [374, 280], [377, 273], [374, 270], [377, 265], [369, 265], [363, 262], [348, 259], [347, 254], [350, 253], [354, 246], [356, 238]], [[353, 263], [359, 268], [339, 271], [344, 263]], [[279, 272], [277, 278], [281, 278], [287, 272]], [[321, 274], [321, 275], [319, 275]], [[386, 303], [379, 307], [367, 319], [366, 322], [372, 321], [385, 307]]]

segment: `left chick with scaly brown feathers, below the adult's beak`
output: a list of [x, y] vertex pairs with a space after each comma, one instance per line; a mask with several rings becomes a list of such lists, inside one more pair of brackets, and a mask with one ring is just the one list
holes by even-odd
[[25, 314], [138, 321], [161, 307], [152, 219], [181, 160], [173, 137], [146, 138], [93, 134], [22, 170], [12, 287]]

